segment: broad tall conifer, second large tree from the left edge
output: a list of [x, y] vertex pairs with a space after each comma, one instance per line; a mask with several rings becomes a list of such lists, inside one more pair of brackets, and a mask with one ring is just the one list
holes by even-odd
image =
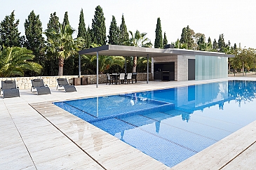
[[[31, 13], [29, 13], [28, 18], [25, 20], [25, 35], [26, 35], [26, 41], [25, 46], [28, 50], [32, 50], [34, 54], [34, 62], [37, 62], [41, 64], [44, 67], [44, 55], [43, 52], [41, 52], [43, 46], [44, 46], [44, 38], [43, 38], [43, 28], [42, 23], [39, 19], [39, 15], [36, 15], [34, 13], [34, 10], [32, 10]], [[30, 75], [32, 76], [32, 75]]]

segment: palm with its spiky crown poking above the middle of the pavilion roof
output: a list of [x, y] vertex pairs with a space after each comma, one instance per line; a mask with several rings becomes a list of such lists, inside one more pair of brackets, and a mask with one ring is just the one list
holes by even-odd
[[[133, 35], [132, 31], [130, 32], [131, 38], [128, 42], [126, 42], [127, 45], [134, 46], [134, 47], [146, 47], [151, 48], [152, 43], [149, 41], [149, 38], [146, 37], [147, 33], [140, 34], [140, 31], [135, 31], [135, 34]], [[133, 73], [136, 72], [136, 66], [137, 66], [137, 56], [133, 56]]]

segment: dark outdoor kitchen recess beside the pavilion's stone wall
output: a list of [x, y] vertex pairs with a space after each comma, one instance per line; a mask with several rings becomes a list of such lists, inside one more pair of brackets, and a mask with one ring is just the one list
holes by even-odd
[[174, 62], [154, 63], [154, 80], [175, 80]]

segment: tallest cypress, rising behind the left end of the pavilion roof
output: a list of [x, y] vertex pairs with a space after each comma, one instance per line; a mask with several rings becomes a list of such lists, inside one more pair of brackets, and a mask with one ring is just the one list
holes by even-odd
[[92, 24], [93, 43], [105, 45], [107, 41], [105, 17], [100, 6], [95, 8], [95, 15]]

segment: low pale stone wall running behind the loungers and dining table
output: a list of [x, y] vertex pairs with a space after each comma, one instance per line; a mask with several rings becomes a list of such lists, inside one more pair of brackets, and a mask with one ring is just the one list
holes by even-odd
[[[88, 78], [88, 84], [97, 83], [97, 75], [82, 75], [81, 77]], [[69, 83], [73, 83], [73, 78], [78, 78], [78, 76], [35, 76], [35, 77], [17, 77], [17, 78], [0, 78], [1, 80], [15, 80], [16, 85], [20, 89], [30, 89], [32, 84], [31, 80], [35, 78], [43, 79], [43, 83], [48, 85], [48, 87], [57, 87], [57, 78], [67, 78]], [[106, 83], [107, 76], [105, 74], [99, 75], [99, 83]], [[147, 73], [137, 73], [137, 81], [147, 80]], [[149, 80], [153, 80], [152, 73], [149, 73]], [[1, 85], [1, 84], [0, 84]]]

